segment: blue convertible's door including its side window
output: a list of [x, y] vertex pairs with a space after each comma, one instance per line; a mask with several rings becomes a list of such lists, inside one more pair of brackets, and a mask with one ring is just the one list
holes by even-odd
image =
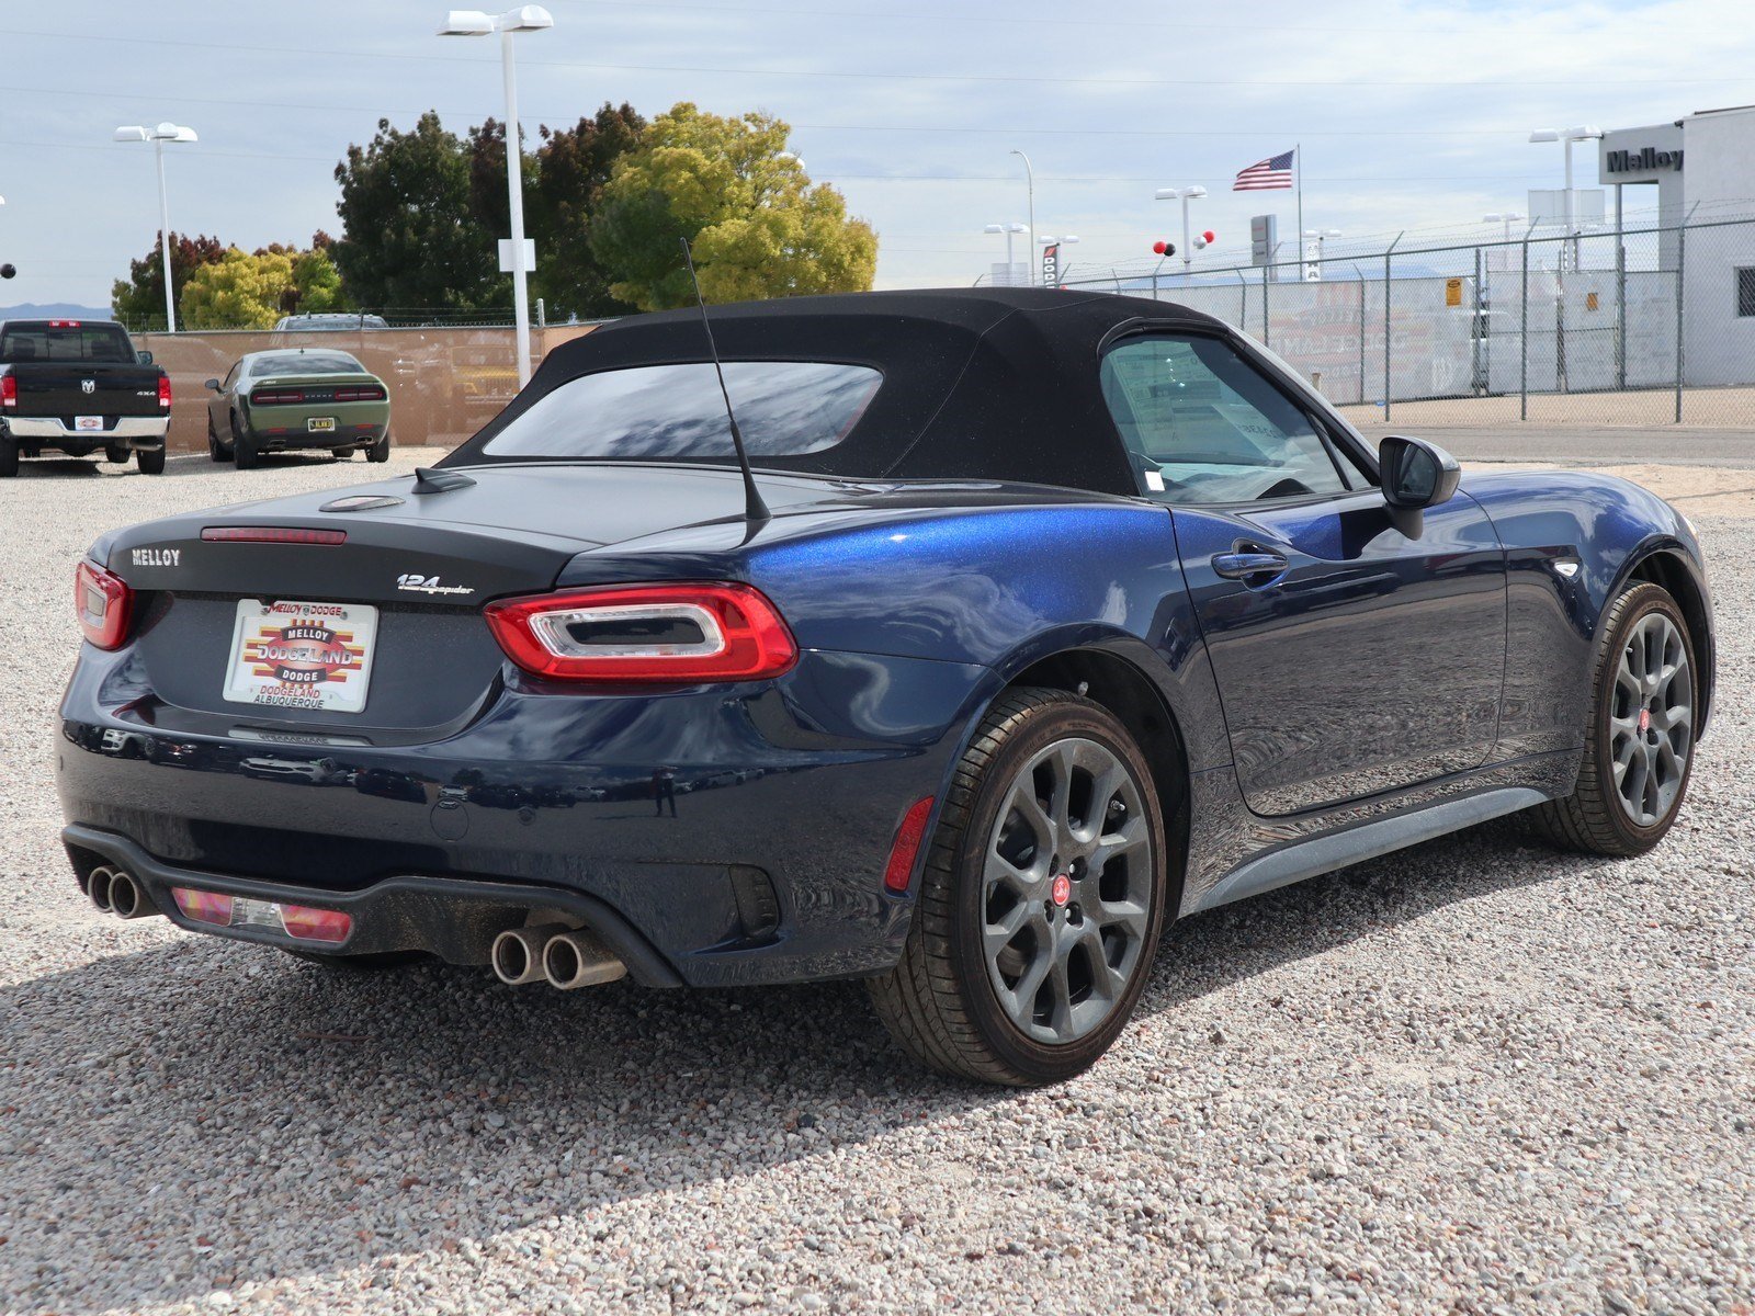
[[1239, 340], [1139, 333], [1102, 372], [1144, 493], [1171, 507], [1250, 807], [1292, 814], [1479, 767], [1504, 690], [1506, 567], [1474, 500], [1392, 514], [1341, 426]]

